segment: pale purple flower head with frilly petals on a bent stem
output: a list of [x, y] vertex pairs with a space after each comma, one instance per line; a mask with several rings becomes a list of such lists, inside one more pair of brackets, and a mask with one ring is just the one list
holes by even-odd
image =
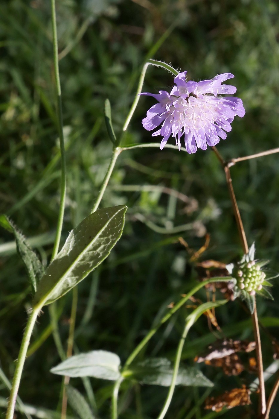
[[225, 131], [231, 131], [234, 117], [238, 115], [242, 118], [245, 114], [240, 98], [221, 96], [236, 92], [234, 86], [222, 85], [223, 81], [233, 78], [233, 74], [224, 73], [212, 80], [186, 82], [186, 73], [183, 71], [174, 78], [175, 86], [171, 93], [164, 90], [160, 90], [158, 95], [140, 93], [153, 96], [158, 101], [147, 111], [142, 125], [151, 131], [163, 123], [152, 134], [152, 137], [162, 135], [161, 150], [170, 136], [176, 139], [180, 150], [183, 135], [188, 153], [196, 153], [198, 148], [206, 150], [207, 145], [216, 145], [220, 138], [225, 140]]

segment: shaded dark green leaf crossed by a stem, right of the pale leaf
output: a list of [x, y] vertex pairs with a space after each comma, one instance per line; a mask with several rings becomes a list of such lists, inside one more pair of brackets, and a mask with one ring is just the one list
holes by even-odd
[[[166, 358], [150, 358], [130, 365], [123, 376], [143, 384], [169, 387], [173, 378], [173, 367]], [[198, 368], [183, 366], [179, 367], [176, 385], [213, 387], [213, 383]]]

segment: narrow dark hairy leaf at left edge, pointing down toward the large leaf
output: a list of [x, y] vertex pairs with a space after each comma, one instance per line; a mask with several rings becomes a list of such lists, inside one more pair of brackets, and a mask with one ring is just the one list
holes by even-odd
[[13, 235], [15, 236], [15, 243], [18, 254], [23, 260], [31, 284], [32, 292], [35, 294], [37, 285], [39, 284], [39, 281], [44, 274], [44, 266], [41, 264], [41, 261], [38, 259], [36, 253], [26, 243], [26, 238], [24, 235], [17, 230], [13, 222], [9, 220], [8, 217], [4, 217], [7, 226], [10, 227], [10, 231], [12, 231]]

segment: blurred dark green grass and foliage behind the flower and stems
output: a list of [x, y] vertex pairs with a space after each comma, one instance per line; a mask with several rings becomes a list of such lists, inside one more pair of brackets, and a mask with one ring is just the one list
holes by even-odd
[[[278, 16], [275, 0], [57, 0], [67, 148], [63, 240], [90, 212], [109, 164], [112, 145], [103, 119], [104, 101], [111, 101], [114, 129], [119, 135], [148, 58], [187, 70], [190, 80], [222, 72], [235, 75], [232, 84], [238, 88], [236, 96], [242, 98], [246, 115], [235, 118], [227, 140], [220, 140], [217, 146], [225, 159], [278, 147]], [[31, 238], [46, 264], [57, 223], [60, 176], [50, 2], [3, 0], [0, 46], [0, 212], [9, 215]], [[150, 66], [143, 91], [168, 90], [172, 83], [170, 73]], [[125, 145], [154, 141], [141, 125], [153, 103], [152, 98], [140, 98], [123, 139]], [[279, 271], [278, 155], [238, 163], [231, 174], [249, 245], [256, 241], [256, 256], [270, 259], [270, 267]], [[180, 192], [183, 199], [170, 195], [169, 189], [162, 192], [163, 187]], [[194, 284], [194, 270], [177, 241], [179, 235], [197, 250], [204, 244], [205, 233], [210, 234], [209, 248], [201, 260], [230, 262], [238, 258], [241, 246], [225, 175], [210, 149], [194, 155], [160, 151], [159, 147], [124, 151], [101, 206], [117, 204], [128, 206], [124, 234], [109, 258], [78, 287], [74, 350], [110, 350], [123, 362], [155, 316]], [[165, 234], [166, 229], [179, 225], [186, 227], [179, 233]], [[0, 367], [1, 375], [11, 379], [31, 297], [12, 235], [2, 230], [0, 240]], [[274, 301], [258, 299], [258, 311], [264, 324], [272, 326], [273, 336], [278, 336], [279, 288], [274, 286], [272, 292]], [[206, 300], [204, 292], [199, 297]], [[71, 293], [57, 304], [58, 333], [64, 348], [70, 309]], [[182, 309], [155, 335], [146, 355], [173, 359], [186, 313], [189, 310]], [[226, 336], [253, 339], [249, 316], [238, 301], [219, 308], [217, 319]], [[34, 330], [32, 342], [37, 348], [31, 347], [35, 352], [26, 361], [19, 395], [26, 403], [54, 412], [61, 379], [49, 373], [59, 363], [50, 325], [45, 308]], [[270, 339], [263, 337], [267, 367], [273, 362], [273, 352]], [[185, 344], [185, 365], [193, 365], [194, 356], [214, 339], [206, 319], [201, 318]], [[139, 359], [144, 356], [142, 353]], [[220, 370], [200, 367], [214, 381], [214, 389], [176, 388], [166, 417], [220, 416], [203, 409], [205, 395], [248, 385], [255, 378], [248, 372], [228, 378]], [[267, 381], [268, 391], [274, 380]], [[2, 381], [3, 405], [8, 391]], [[80, 379], [71, 383], [86, 394]], [[100, 417], [109, 417], [111, 383], [95, 379], [90, 383]], [[124, 384], [121, 417], [155, 418], [166, 393], [166, 388], [157, 386]], [[252, 411], [250, 407], [235, 408], [225, 412], [225, 417], [256, 417], [256, 397], [252, 400]], [[278, 417], [278, 409], [277, 400], [271, 418]], [[0, 407], [1, 411], [5, 409]]]

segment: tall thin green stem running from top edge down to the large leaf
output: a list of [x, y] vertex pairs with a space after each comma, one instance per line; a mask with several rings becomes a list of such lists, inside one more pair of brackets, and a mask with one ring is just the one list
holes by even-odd
[[53, 42], [53, 57], [54, 57], [54, 76], [55, 76], [55, 90], [57, 95], [57, 114], [58, 114], [58, 131], [59, 131], [59, 143], [61, 152], [61, 192], [60, 192], [60, 205], [57, 222], [57, 231], [54, 241], [54, 247], [52, 251], [52, 259], [58, 253], [62, 224], [65, 210], [65, 198], [66, 198], [66, 158], [65, 158], [65, 146], [64, 146], [64, 135], [63, 135], [63, 117], [62, 117], [62, 98], [61, 98], [61, 87], [59, 79], [59, 65], [58, 65], [58, 42], [57, 42], [57, 28], [56, 28], [56, 13], [55, 13], [55, 0], [51, 0], [52, 3], [52, 42]]

